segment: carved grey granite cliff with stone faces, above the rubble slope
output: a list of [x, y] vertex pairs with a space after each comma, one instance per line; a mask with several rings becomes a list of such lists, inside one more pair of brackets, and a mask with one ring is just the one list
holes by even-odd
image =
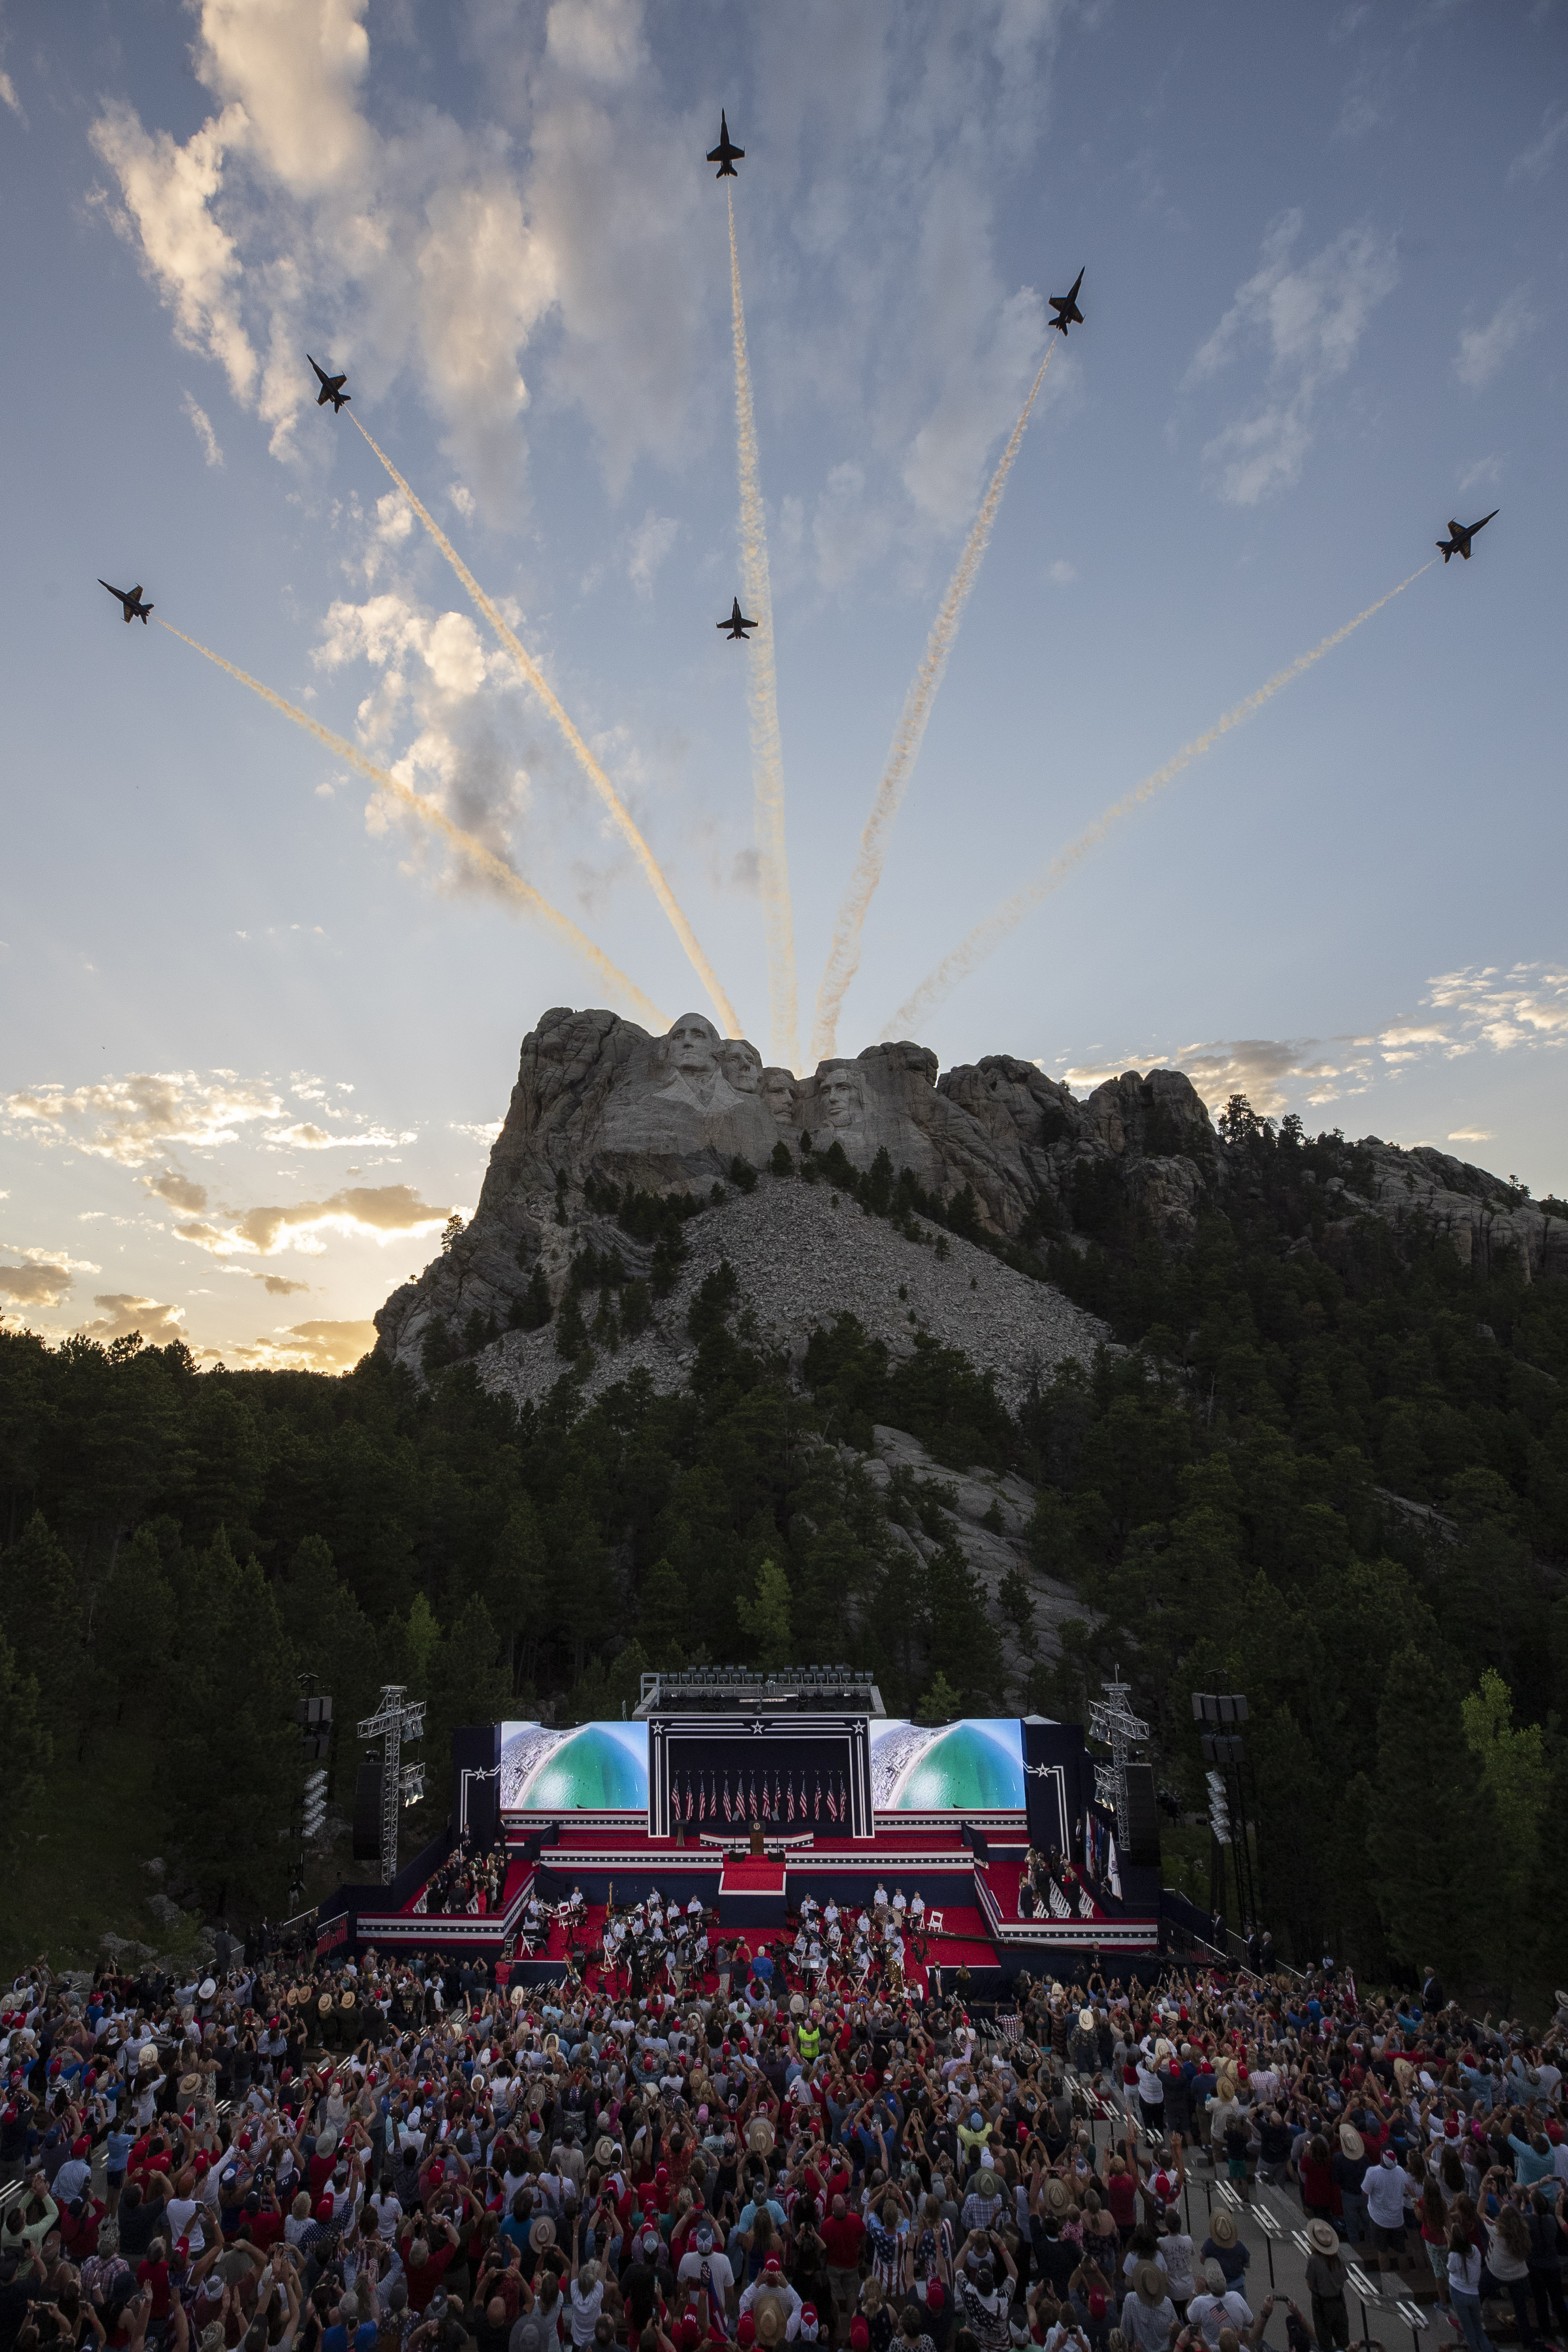
[[418, 1369], [437, 1322], [505, 1329], [534, 1270], [559, 1296], [583, 1244], [616, 1247], [637, 1270], [637, 1249], [588, 1207], [595, 1185], [705, 1202], [736, 1162], [764, 1171], [783, 1143], [797, 1164], [806, 1138], [860, 1171], [886, 1152], [891, 1176], [907, 1169], [929, 1197], [969, 1192], [973, 1228], [992, 1237], [1018, 1237], [1041, 1207], [1060, 1225], [1077, 1164], [1105, 1162], [1135, 1167], [1135, 1197], [1180, 1242], [1218, 1174], [1208, 1112], [1175, 1070], [1128, 1073], [1079, 1103], [1006, 1054], [938, 1077], [926, 1047], [877, 1044], [797, 1080], [701, 1014], [649, 1037], [616, 1014], [555, 1009], [522, 1042], [468, 1230], [381, 1308], [381, 1348]]

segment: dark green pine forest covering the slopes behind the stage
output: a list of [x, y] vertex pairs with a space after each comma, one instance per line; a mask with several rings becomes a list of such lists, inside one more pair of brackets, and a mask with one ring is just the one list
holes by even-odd
[[[425, 1696], [444, 1804], [456, 1722], [621, 1712], [644, 1665], [849, 1661], [893, 1712], [1079, 1717], [1119, 1661], [1187, 1806], [1190, 1691], [1248, 1693], [1281, 1947], [1533, 1985], [1568, 1926], [1568, 1284], [1347, 1221], [1345, 1192], [1326, 1223], [1356, 1178], [1338, 1136], [1237, 1103], [1222, 1150], [1182, 1254], [1088, 1176], [1074, 1232], [1041, 1218], [1006, 1244], [1121, 1343], [1016, 1418], [961, 1357], [896, 1362], [849, 1317], [790, 1378], [719, 1277], [691, 1308], [689, 1388], [630, 1378], [592, 1406], [581, 1352], [517, 1411], [463, 1362], [421, 1388], [381, 1357], [197, 1374], [181, 1348], [0, 1334], [16, 1933], [54, 1903], [28, 1907], [40, 1875], [71, 1884], [87, 1940], [148, 1933], [71, 1879], [73, 1837], [99, 1867], [89, 1818], [127, 1867], [165, 1856], [233, 1919], [277, 1912], [301, 1675], [336, 1700], [339, 1799], [381, 1682]], [[1034, 1559], [1084, 1618], [1023, 1689], [999, 1689], [940, 1486], [865, 1477], [879, 1421], [1039, 1486]], [[1006, 1604], [1027, 1632], [1025, 1578]]]

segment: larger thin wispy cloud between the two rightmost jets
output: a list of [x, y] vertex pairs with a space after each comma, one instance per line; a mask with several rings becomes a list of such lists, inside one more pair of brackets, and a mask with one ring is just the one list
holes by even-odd
[[1229, 506], [1258, 506], [1300, 480], [1321, 395], [1356, 358], [1366, 325], [1399, 278], [1394, 240], [1347, 228], [1312, 261], [1291, 266], [1305, 214], [1281, 214], [1262, 240], [1262, 266], [1194, 353], [1182, 390], [1211, 383], [1244, 350], [1267, 353], [1265, 400], [1204, 447], [1204, 468]]

